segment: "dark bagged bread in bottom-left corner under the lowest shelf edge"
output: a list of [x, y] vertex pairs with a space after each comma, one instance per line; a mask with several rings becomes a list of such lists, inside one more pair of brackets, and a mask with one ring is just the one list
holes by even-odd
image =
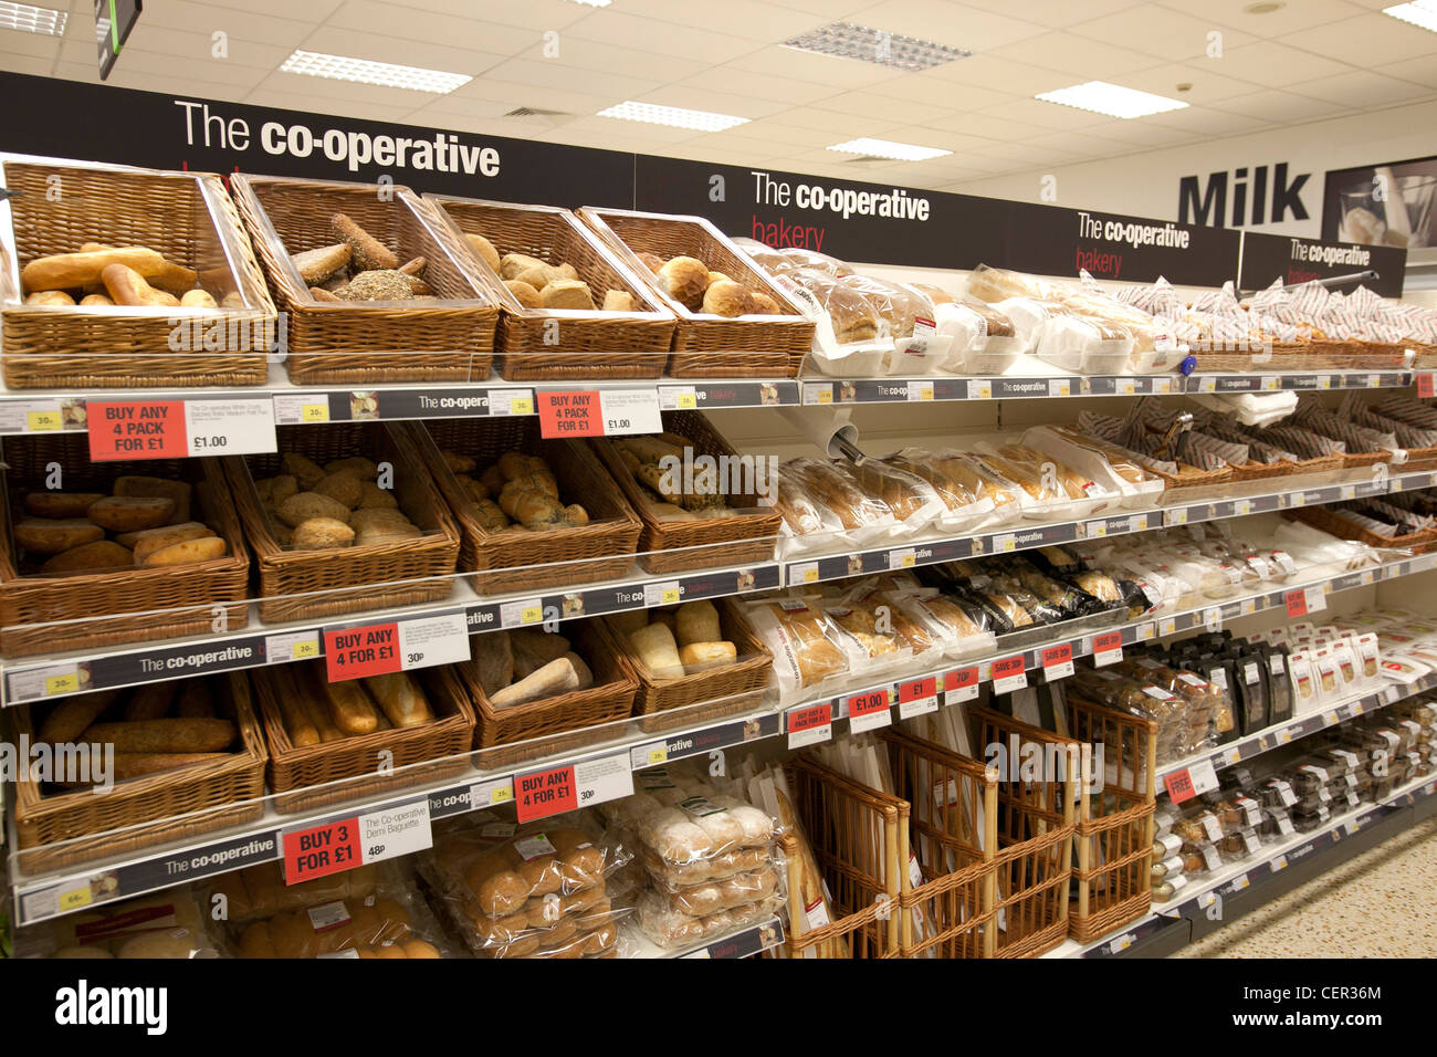
[[[92, 887], [95, 882], [91, 882]], [[16, 958], [220, 958], [188, 884], [86, 907], [16, 933]]]

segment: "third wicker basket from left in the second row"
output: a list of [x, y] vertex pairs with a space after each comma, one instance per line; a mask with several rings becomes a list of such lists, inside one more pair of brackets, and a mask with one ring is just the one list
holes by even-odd
[[[533, 416], [447, 418], [408, 423], [407, 427], [458, 522], [458, 564], [466, 572], [477, 574], [470, 584], [479, 594], [592, 584], [634, 572], [642, 525], [614, 477], [582, 440], [543, 440]], [[536, 454], [553, 470], [563, 500], [579, 503], [591, 521], [542, 532], [486, 529], [441, 450], [473, 457], [479, 465], [476, 476], [506, 452]]]

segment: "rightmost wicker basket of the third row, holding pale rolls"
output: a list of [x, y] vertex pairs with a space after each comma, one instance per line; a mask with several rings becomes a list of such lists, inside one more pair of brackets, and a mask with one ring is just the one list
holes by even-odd
[[[628, 636], [614, 624], [612, 617], [602, 617], [598, 621], [599, 633], [608, 647], [621, 654], [638, 677], [638, 693], [634, 696], [635, 716], [683, 710], [683, 722], [697, 723], [747, 712], [759, 705], [773, 667], [773, 654], [727, 600], [720, 600], [717, 608], [721, 634], [726, 641], [734, 644], [739, 659], [733, 664], [673, 679], [655, 676], [648, 670], [644, 659], [629, 643]], [[703, 702], [713, 702], [713, 709], [703, 713], [690, 710]]]

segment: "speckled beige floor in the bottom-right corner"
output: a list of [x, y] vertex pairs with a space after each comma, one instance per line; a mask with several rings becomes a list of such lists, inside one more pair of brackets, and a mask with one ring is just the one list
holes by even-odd
[[1378, 844], [1175, 956], [1437, 956], [1437, 818]]

